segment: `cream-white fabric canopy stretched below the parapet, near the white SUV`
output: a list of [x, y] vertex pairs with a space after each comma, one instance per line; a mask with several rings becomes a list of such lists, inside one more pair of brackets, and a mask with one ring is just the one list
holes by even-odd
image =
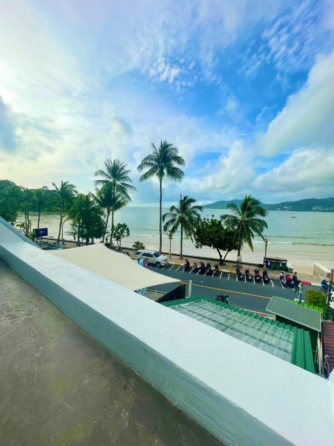
[[144, 268], [129, 256], [108, 249], [103, 243], [47, 252], [132, 291], [180, 281]]

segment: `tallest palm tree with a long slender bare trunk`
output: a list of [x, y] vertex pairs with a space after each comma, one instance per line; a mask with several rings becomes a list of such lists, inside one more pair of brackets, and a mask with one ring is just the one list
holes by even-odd
[[138, 166], [138, 170], [141, 172], [147, 169], [146, 172], [140, 177], [139, 181], [145, 181], [153, 176], [157, 176], [159, 179], [160, 187], [160, 216], [159, 216], [159, 252], [162, 248], [162, 179], [166, 176], [173, 181], [181, 181], [185, 173], [178, 166], [184, 166], [185, 160], [179, 156], [179, 149], [174, 147], [173, 144], [168, 143], [166, 140], [160, 141], [158, 148], [152, 143], [152, 153], [145, 157], [141, 164]]

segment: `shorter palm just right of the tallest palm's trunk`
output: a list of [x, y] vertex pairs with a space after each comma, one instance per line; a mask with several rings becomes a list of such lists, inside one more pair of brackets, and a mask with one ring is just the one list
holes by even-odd
[[183, 231], [185, 231], [187, 237], [191, 237], [193, 228], [199, 219], [199, 212], [202, 211], [202, 207], [198, 205], [192, 206], [196, 203], [196, 200], [188, 197], [188, 195], [185, 195], [182, 198], [182, 195], [180, 194], [180, 197], [179, 206], [171, 206], [169, 212], [162, 216], [162, 221], [165, 222], [169, 219], [163, 227], [164, 231], [171, 228], [171, 232], [173, 233], [177, 231], [179, 226], [181, 226], [180, 259], [182, 260]]

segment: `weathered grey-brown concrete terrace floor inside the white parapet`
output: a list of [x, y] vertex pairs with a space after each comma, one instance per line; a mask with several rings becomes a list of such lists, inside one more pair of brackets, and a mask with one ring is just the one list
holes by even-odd
[[219, 443], [0, 260], [0, 445]]

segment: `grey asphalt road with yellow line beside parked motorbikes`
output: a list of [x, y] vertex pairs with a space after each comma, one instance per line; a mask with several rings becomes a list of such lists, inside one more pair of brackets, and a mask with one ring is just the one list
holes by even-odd
[[[189, 281], [191, 279], [191, 296], [216, 297], [217, 294], [228, 294], [231, 305], [260, 313], [267, 314], [266, 306], [272, 296], [280, 296], [291, 300], [298, 297], [298, 292], [294, 293], [291, 287], [283, 288], [280, 281], [277, 279], [270, 279], [269, 283], [263, 284], [262, 279], [259, 283], [255, 282], [253, 279], [251, 282], [245, 282], [244, 279], [242, 281], [237, 279], [236, 274], [229, 273], [222, 273], [214, 277], [206, 275], [204, 277], [201, 274], [196, 275], [189, 271], [183, 272], [182, 267], [179, 268], [178, 265], [174, 266], [172, 264], [168, 264], [164, 268], [156, 268], [155, 266], [149, 266], [149, 268], [154, 271], [156, 270], [157, 273], [175, 279], [184, 281]], [[175, 285], [173, 283], [168, 283], [156, 286], [154, 289], [167, 292], [174, 287]], [[308, 288], [319, 289], [303, 285], [303, 292]], [[188, 295], [188, 287], [186, 295]]]

